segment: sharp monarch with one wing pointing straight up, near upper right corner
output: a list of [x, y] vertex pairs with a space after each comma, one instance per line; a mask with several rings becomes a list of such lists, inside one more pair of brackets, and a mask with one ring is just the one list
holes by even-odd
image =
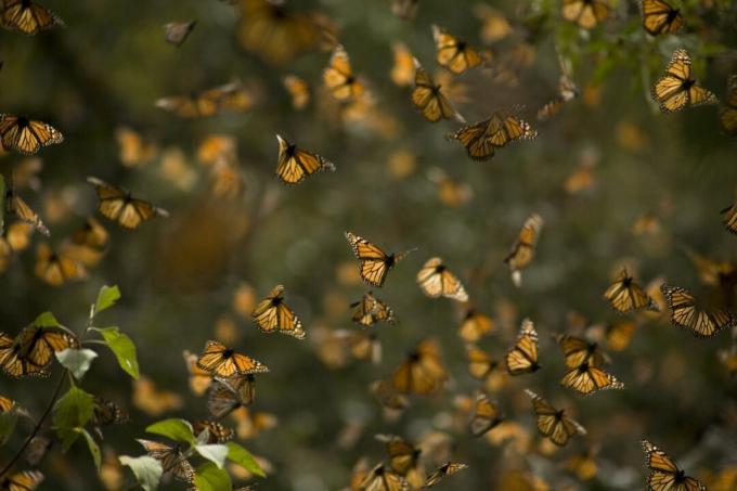
[[665, 68], [665, 76], [652, 86], [652, 98], [663, 113], [674, 113], [687, 106], [716, 104], [716, 95], [699, 86], [691, 74], [688, 52], [677, 49]]

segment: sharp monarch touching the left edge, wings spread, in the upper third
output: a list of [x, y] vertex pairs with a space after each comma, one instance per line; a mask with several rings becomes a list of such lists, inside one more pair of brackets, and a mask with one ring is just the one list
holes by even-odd
[[42, 146], [63, 141], [64, 135], [47, 122], [28, 119], [25, 116], [0, 114], [0, 142], [4, 150], [34, 155]]

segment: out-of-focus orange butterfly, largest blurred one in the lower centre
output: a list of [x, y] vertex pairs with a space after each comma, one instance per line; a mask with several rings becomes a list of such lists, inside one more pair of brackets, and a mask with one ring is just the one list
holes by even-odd
[[391, 386], [400, 393], [427, 395], [448, 378], [440, 346], [432, 339], [421, 341], [391, 375]]

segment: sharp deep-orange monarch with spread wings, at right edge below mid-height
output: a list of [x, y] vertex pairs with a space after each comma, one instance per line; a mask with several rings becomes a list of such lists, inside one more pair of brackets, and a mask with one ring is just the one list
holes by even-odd
[[701, 308], [696, 297], [686, 288], [662, 284], [660, 290], [665, 296], [673, 325], [685, 327], [695, 336], [711, 337], [723, 328], [737, 324], [728, 311]]

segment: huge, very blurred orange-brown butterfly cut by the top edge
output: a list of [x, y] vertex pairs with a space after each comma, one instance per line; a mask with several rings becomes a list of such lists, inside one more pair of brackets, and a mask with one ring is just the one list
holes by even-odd
[[284, 2], [240, 0], [238, 41], [270, 64], [288, 62], [313, 49], [320, 29], [308, 14], [292, 12]]

